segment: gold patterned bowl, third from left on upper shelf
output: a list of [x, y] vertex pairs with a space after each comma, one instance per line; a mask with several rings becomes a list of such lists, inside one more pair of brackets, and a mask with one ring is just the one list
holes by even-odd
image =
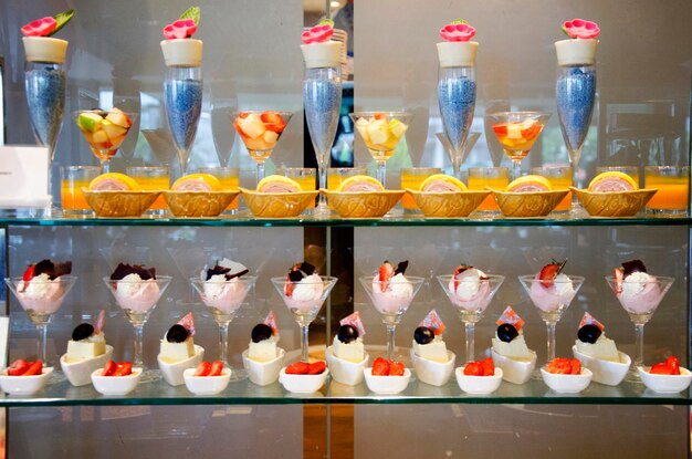
[[243, 199], [250, 211], [261, 218], [291, 218], [297, 217], [315, 202], [318, 191], [297, 192], [260, 192], [241, 188]]

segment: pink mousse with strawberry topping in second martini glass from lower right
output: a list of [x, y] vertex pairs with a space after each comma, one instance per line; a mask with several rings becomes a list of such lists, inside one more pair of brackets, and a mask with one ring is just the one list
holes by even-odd
[[531, 300], [542, 311], [551, 312], [569, 304], [577, 293], [567, 274], [562, 270], [567, 260], [558, 263], [552, 262], [541, 269], [536, 274], [536, 281], [532, 282], [528, 294]]

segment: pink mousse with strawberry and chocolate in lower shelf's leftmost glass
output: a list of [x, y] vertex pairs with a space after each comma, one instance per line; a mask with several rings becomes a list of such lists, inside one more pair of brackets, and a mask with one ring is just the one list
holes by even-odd
[[53, 263], [51, 260], [42, 260], [30, 264], [17, 285], [17, 298], [24, 311], [34, 311], [39, 314], [55, 313], [64, 296], [60, 277], [71, 272], [72, 261]]

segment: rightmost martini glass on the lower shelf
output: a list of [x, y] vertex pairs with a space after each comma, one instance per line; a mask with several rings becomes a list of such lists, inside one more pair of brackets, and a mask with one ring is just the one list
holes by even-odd
[[[629, 314], [630, 321], [635, 324], [637, 355], [632, 364], [632, 371], [636, 374], [637, 367], [643, 365], [644, 325], [651, 320], [674, 279], [651, 275], [646, 282], [623, 282], [616, 280], [612, 275], [608, 275], [606, 281], [612, 289], [612, 293], [620, 302], [622, 309]], [[638, 377], [632, 379], [639, 380]]]

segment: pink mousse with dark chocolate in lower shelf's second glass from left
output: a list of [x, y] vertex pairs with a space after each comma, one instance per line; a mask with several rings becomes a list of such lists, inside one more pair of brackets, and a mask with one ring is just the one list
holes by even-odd
[[116, 281], [115, 299], [124, 310], [145, 313], [159, 299], [156, 268], [119, 263], [111, 274], [111, 280]]

